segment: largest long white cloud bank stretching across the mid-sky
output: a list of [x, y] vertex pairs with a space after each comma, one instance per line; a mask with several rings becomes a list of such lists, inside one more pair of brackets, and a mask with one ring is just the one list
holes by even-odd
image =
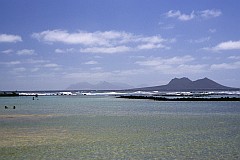
[[[47, 30], [33, 33], [33, 38], [47, 43], [64, 43], [80, 45], [80, 52], [88, 53], [119, 53], [155, 48], [169, 48], [165, 43], [172, 40], [163, 39], [159, 35], [143, 36], [127, 32], [105, 31], [69, 33], [66, 30]], [[69, 52], [70, 50], [56, 49], [57, 53]]]

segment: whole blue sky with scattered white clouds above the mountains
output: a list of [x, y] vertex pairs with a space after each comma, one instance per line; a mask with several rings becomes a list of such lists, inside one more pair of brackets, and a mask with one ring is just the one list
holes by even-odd
[[208, 77], [240, 88], [239, 0], [0, 0], [0, 90]]

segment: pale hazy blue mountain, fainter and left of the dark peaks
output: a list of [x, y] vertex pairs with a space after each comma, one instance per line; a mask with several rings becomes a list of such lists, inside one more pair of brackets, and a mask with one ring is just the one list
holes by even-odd
[[99, 82], [97, 84], [90, 84], [88, 82], [80, 82], [70, 85], [67, 90], [123, 90], [133, 88], [124, 83], [109, 83], [106, 81]]

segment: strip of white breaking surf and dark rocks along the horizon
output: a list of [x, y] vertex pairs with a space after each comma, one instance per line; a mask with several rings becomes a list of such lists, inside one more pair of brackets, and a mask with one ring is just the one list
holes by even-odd
[[32, 96], [113, 96], [125, 99], [149, 99], [155, 101], [240, 101], [240, 91], [197, 91], [197, 92], [159, 92], [159, 91], [25, 91], [0, 92], [0, 97]]

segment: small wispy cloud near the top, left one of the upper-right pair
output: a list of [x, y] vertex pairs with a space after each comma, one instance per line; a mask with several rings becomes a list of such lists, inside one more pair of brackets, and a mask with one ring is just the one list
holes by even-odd
[[174, 11], [170, 10], [166, 13], [166, 16], [169, 18], [177, 18], [180, 21], [189, 21], [195, 17], [194, 11], [191, 14], [183, 14], [179, 10]]

